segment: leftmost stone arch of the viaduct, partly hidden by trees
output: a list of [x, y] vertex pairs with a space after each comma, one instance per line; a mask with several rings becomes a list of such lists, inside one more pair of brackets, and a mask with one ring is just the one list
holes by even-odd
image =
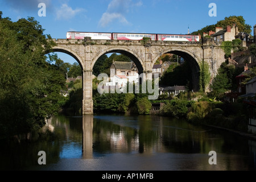
[[55, 46], [51, 49], [51, 51], [49, 51], [47, 53], [51, 53], [51, 52], [67, 53], [69, 56], [72, 56], [77, 61], [77, 63], [79, 63], [82, 70], [84, 70], [84, 68], [85, 68], [84, 61], [81, 59], [81, 57], [75, 51], [72, 51], [72, 49], [69, 49], [67, 47]]

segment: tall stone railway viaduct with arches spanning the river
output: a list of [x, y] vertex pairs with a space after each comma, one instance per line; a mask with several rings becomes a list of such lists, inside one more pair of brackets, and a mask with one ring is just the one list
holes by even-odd
[[213, 78], [217, 69], [225, 61], [225, 53], [220, 43], [212, 39], [202, 42], [164, 42], [138, 40], [91, 40], [53, 39], [56, 46], [52, 52], [64, 52], [74, 57], [80, 64], [83, 75], [82, 114], [93, 114], [92, 71], [98, 58], [106, 53], [122, 53], [137, 65], [139, 74], [152, 78], [152, 67], [164, 53], [174, 53], [189, 61], [192, 69], [193, 89], [199, 89], [200, 64], [207, 63]]

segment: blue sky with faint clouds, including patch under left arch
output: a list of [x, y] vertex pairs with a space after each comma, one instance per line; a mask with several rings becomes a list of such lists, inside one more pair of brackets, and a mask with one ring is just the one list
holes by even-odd
[[54, 39], [67, 31], [187, 34], [232, 15], [253, 27], [255, 7], [255, 0], [0, 0], [3, 17], [34, 17]]

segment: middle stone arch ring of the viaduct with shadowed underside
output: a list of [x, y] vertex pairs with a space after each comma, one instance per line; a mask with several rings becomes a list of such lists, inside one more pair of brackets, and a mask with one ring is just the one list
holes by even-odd
[[96, 61], [102, 56], [107, 53], [121, 53], [122, 55], [125, 55], [129, 57], [136, 65], [138, 69], [138, 73], [141, 74], [145, 70], [144, 61], [142, 60], [141, 56], [139, 56], [137, 53], [135, 53], [133, 50], [125, 47], [112, 47], [105, 49], [101, 53], [99, 53], [97, 56], [95, 56], [92, 60], [92, 69], [94, 67], [94, 64]]

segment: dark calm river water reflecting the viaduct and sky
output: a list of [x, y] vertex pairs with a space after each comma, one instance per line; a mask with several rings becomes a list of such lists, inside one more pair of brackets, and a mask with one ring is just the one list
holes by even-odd
[[[44, 134], [1, 144], [1, 170], [254, 171], [256, 141], [156, 115], [59, 115]], [[46, 165], [39, 165], [39, 151]], [[216, 155], [209, 155], [215, 151]], [[214, 160], [216, 164], [210, 164]]]

